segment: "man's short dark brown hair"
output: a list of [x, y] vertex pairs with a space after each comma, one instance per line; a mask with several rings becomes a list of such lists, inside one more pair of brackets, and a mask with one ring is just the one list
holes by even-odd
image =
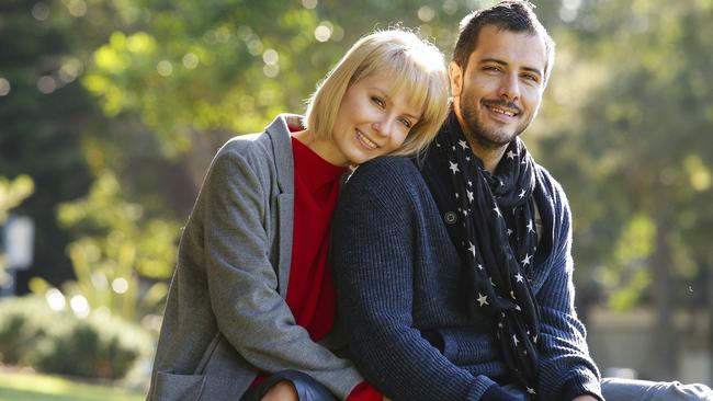
[[476, 10], [461, 20], [459, 37], [453, 49], [453, 61], [463, 70], [468, 65], [468, 58], [478, 43], [480, 30], [486, 25], [495, 25], [500, 30], [511, 32], [528, 32], [540, 34], [545, 42], [547, 60], [545, 64], [545, 82], [552, 73], [555, 61], [555, 42], [534, 13], [534, 4], [528, 0], [503, 0], [483, 10]]

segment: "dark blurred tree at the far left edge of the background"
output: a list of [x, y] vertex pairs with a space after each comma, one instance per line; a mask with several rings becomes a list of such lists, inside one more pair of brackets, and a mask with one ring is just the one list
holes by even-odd
[[0, 3], [0, 173], [34, 179], [35, 192], [16, 210], [35, 221], [35, 257], [20, 272], [59, 283], [70, 274], [54, 205], [82, 195], [90, 182], [80, 136], [93, 107], [76, 80], [83, 65], [71, 54], [73, 18], [59, 1]]

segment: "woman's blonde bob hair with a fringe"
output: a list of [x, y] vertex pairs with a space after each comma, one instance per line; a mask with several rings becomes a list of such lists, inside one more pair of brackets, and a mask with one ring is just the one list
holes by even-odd
[[406, 90], [410, 103], [422, 110], [404, 145], [392, 154], [420, 152], [435, 137], [448, 114], [448, 72], [435, 46], [400, 28], [374, 32], [347, 51], [309, 99], [305, 127], [317, 138], [331, 138], [347, 89], [373, 75], [388, 77], [394, 82], [391, 94]]

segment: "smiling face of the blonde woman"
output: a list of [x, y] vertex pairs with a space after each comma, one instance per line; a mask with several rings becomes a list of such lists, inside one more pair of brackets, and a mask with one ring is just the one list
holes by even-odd
[[408, 91], [387, 93], [392, 84], [374, 75], [347, 89], [332, 129], [333, 164], [361, 164], [404, 144], [422, 111], [409, 104]]

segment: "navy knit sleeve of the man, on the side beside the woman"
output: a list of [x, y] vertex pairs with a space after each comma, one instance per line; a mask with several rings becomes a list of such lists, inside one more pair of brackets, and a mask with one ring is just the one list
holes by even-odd
[[332, 231], [339, 316], [353, 360], [386, 397], [478, 400], [494, 381], [453, 365], [414, 326], [414, 248], [427, 234], [419, 232], [423, 193], [405, 159], [376, 159], [352, 175]]

